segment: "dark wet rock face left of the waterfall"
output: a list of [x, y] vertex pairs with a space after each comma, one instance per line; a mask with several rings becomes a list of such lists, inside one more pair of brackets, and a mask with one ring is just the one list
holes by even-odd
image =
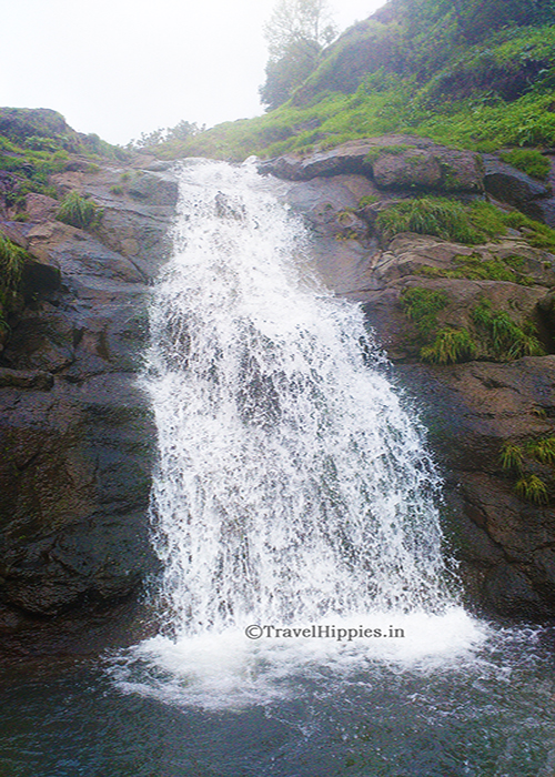
[[33, 255], [0, 360], [0, 599], [28, 613], [124, 597], [155, 566], [155, 431], [138, 373], [178, 184], [132, 171], [140, 185], [120, 188], [122, 173], [71, 173], [103, 208], [94, 234], [52, 221], [38, 195], [29, 221], [0, 222]]

